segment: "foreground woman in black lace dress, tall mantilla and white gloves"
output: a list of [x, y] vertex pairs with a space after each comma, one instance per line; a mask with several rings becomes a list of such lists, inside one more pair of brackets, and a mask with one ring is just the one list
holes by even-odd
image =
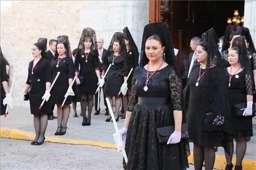
[[[127, 132], [124, 169], [186, 169], [181, 124], [182, 82], [171, 34], [164, 23], [150, 23], [144, 28], [140, 67], [133, 74], [132, 95], [119, 131], [123, 138]], [[156, 129], [170, 125], [175, 131], [167, 143], [159, 143]]]

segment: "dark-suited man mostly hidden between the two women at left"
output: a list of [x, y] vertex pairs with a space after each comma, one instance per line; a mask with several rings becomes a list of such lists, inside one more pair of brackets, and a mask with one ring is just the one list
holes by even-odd
[[[49, 41], [49, 50], [46, 52], [46, 59], [48, 59], [50, 62], [52, 62], [53, 58], [55, 57], [56, 44], [57, 41], [54, 39], [51, 39]], [[48, 120], [53, 120], [57, 118], [53, 115], [54, 106], [55, 104], [52, 104], [52, 112], [48, 113]]]

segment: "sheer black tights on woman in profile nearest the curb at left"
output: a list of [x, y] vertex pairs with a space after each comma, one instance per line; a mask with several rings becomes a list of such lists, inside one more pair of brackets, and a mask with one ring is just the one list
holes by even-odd
[[45, 130], [48, 124], [48, 115], [34, 115], [35, 139], [34, 141], [42, 142], [45, 138]]

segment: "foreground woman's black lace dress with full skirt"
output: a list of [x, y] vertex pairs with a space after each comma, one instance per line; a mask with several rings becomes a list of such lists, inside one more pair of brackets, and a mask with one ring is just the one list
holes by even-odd
[[[153, 72], [149, 72], [149, 75]], [[182, 83], [172, 66], [157, 71], [144, 91], [147, 70], [137, 67], [127, 111], [132, 111], [127, 130], [125, 169], [186, 169], [187, 152], [183, 141], [160, 144], [156, 128], [174, 125], [173, 110], [182, 110]], [[140, 104], [139, 97], [168, 98], [168, 104]]]

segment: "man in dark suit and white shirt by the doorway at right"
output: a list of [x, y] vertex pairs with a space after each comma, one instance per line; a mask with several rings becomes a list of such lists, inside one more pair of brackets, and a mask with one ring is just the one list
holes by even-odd
[[189, 77], [191, 69], [199, 64], [196, 60], [196, 50], [199, 43], [200, 43], [200, 38], [198, 36], [195, 36], [190, 40], [190, 48], [191, 50], [193, 50], [193, 52], [189, 54], [189, 66], [188, 66], [189, 69], [188, 69], [187, 77]]

